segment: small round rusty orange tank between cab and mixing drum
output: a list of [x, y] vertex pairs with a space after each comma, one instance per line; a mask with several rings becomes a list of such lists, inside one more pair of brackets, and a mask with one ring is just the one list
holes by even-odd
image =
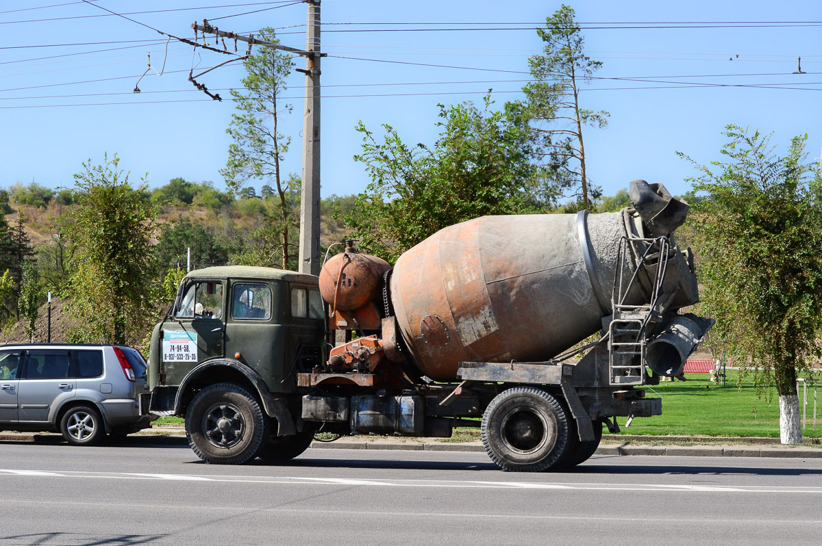
[[[350, 251], [349, 251], [350, 250]], [[386, 260], [358, 254], [351, 248], [332, 256], [320, 271], [320, 292], [335, 310], [355, 311], [380, 296], [382, 276], [391, 268]]]

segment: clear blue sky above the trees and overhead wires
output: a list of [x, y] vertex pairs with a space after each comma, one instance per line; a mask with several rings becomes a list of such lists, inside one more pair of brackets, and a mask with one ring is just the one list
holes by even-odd
[[[95, 3], [186, 38], [192, 37], [192, 21], [208, 18], [224, 30], [279, 27], [284, 44], [305, 44], [303, 3]], [[774, 131], [780, 147], [807, 133], [811, 157], [820, 157], [822, 2], [569, 3], [585, 29], [587, 53], [603, 62], [596, 75], [603, 79], [587, 85], [581, 101], [585, 108], [611, 112], [606, 130], [585, 133], [589, 176], [607, 195], [635, 178], [684, 193], [690, 186], [683, 179], [694, 171], [675, 153], [685, 152], [700, 163], [718, 159], [720, 132], [727, 123]], [[321, 40], [329, 57], [322, 60], [321, 77], [322, 194], [358, 193], [367, 185], [363, 165], [352, 158], [359, 151], [354, 126], [360, 120], [372, 130], [389, 123], [409, 143], [432, 144], [437, 103], [479, 101], [488, 88], [494, 89], [498, 106], [520, 98], [528, 79], [527, 58], [542, 47], [533, 26], [560, 4], [323, 0]], [[32, 7], [43, 8], [26, 9]], [[134, 13], [178, 8], [195, 9]], [[222, 16], [232, 17], [217, 20]], [[713, 24], [721, 21], [741, 24]], [[773, 24], [778, 21], [806, 25]], [[710, 26], [717, 28], [706, 28]], [[492, 27], [515, 30], [453, 30]], [[527, 27], [532, 30], [522, 30]], [[54, 47], [95, 42], [118, 43]], [[50, 47], [29, 47], [42, 45]], [[72, 186], [72, 173], [81, 169], [81, 162], [90, 158], [99, 163], [105, 152], [121, 156], [133, 182], [148, 172], [150, 186], [172, 177], [223, 186], [218, 171], [226, 160], [229, 137], [224, 130], [234, 107], [229, 100], [211, 101], [187, 81], [192, 48], [172, 40], [164, 75], [150, 72], [140, 82], [142, 93], [132, 94], [147, 53], [154, 67], [162, 67], [164, 45], [155, 31], [85, 2], [0, 2], [0, 186], [32, 180]], [[99, 51], [109, 48], [118, 49]], [[63, 57], [53, 57], [57, 55]], [[806, 74], [795, 75], [799, 55]], [[222, 60], [219, 53], [193, 58], [199, 67]], [[227, 89], [238, 86], [241, 77], [242, 67], [225, 67], [201, 82], [210, 89]], [[294, 112], [284, 122], [284, 131], [293, 137], [287, 172], [302, 168], [302, 85], [303, 76], [295, 73], [287, 92]], [[229, 96], [226, 90], [219, 93]], [[256, 186], [259, 190], [261, 184]]]

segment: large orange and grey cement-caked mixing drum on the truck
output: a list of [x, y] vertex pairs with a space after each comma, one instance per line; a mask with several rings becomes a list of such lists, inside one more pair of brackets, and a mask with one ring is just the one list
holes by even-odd
[[[610, 295], [626, 224], [621, 213], [592, 214], [588, 229]], [[460, 361], [548, 360], [602, 328], [575, 214], [447, 227], [400, 256], [391, 294], [413, 361], [438, 381], [454, 380]]]

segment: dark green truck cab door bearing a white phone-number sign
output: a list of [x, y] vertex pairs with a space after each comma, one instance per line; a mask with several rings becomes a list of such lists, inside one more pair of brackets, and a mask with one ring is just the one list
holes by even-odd
[[192, 279], [163, 323], [160, 357], [167, 380], [178, 384], [194, 366], [224, 356], [225, 282]]

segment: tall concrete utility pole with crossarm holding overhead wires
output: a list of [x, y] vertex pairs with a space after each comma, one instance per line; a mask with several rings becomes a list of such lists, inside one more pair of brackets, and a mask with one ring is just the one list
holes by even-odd
[[304, 51], [256, 39], [253, 35], [247, 37], [219, 30], [209, 25], [206, 20], [203, 20], [202, 25], [192, 25], [192, 29], [204, 34], [216, 34], [247, 44], [264, 45], [306, 57], [305, 69], [297, 69], [306, 75], [302, 123], [299, 272], [312, 275], [320, 274], [320, 58], [323, 56], [323, 53], [320, 53], [320, 2], [321, 0], [306, 0], [308, 15]]

